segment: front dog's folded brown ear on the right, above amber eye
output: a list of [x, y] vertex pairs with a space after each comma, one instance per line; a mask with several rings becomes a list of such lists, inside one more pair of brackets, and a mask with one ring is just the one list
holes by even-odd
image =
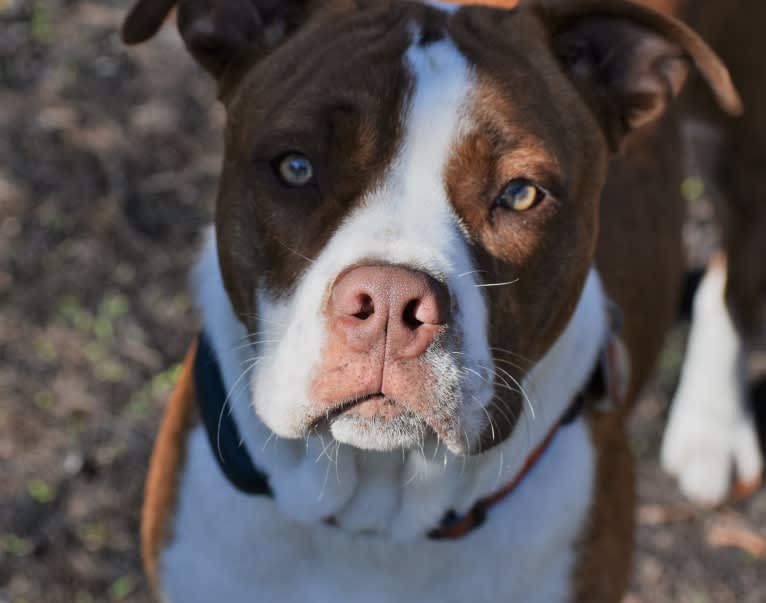
[[588, 98], [617, 149], [658, 119], [686, 82], [690, 65], [732, 114], [742, 103], [721, 60], [680, 21], [626, 0], [530, 0], [551, 32], [564, 70]]

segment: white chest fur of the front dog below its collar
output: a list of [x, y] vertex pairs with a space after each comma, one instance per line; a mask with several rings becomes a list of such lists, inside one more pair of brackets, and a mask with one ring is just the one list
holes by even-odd
[[160, 561], [163, 592], [184, 603], [566, 601], [592, 480], [580, 420], [482, 527], [457, 541], [397, 543], [291, 522], [273, 500], [240, 494], [197, 429]]

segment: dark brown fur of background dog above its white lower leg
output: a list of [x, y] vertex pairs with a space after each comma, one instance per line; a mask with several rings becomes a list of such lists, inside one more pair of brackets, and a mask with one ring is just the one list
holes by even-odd
[[720, 192], [716, 211], [728, 256], [726, 297], [748, 340], [766, 325], [766, 4], [758, 0], [690, 3], [682, 15], [700, 30], [731, 69], [745, 113], [727, 119], [695, 86], [686, 109], [717, 130], [716, 159], [706, 178]]

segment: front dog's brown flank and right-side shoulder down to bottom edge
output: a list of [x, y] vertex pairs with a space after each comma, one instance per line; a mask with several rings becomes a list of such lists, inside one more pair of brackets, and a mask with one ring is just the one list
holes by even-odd
[[[613, 160], [601, 204], [597, 265], [607, 293], [623, 311], [621, 337], [630, 352], [631, 378], [624, 408], [590, 417], [597, 460], [595, 499], [576, 572], [575, 600], [582, 603], [619, 600], [632, 567], [634, 463], [625, 420], [675, 316], [683, 269], [681, 156], [677, 137], [667, 135], [675, 131], [674, 121], [668, 116], [637, 133]], [[649, 176], [657, 173], [664, 177]]]

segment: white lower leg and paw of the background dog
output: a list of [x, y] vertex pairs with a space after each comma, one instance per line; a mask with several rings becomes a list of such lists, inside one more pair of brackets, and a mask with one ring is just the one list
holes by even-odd
[[662, 465], [690, 499], [722, 502], [732, 471], [760, 479], [763, 460], [746, 405], [746, 350], [724, 302], [726, 269], [711, 267], [694, 299], [681, 381], [662, 443]]

